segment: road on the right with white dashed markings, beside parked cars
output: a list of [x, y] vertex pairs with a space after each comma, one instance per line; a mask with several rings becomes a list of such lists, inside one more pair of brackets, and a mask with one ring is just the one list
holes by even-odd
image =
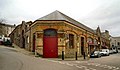
[[67, 63], [81, 70], [120, 70], [120, 53], [101, 58], [91, 58], [88, 61], [67, 61]]

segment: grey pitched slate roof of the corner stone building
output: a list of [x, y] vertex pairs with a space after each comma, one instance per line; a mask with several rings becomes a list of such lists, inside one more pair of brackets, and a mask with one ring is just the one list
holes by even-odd
[[69, 16], [67, 16], [67, 15], [65, 15], [65, 14], [63, 14], [63, 13], [57, 11], [57, 10], [48, 14], [48, 15], [46, 15], [46, 16], [44, 16], [44, 17], [42, 17], [42, 18], [39, 18], [37, 20], [65, 20], [65, 21], [70, 22], [73, 25], [76, 25], [80, 28], [83, 28], [87, 31], [90, 31], [90, 32], [94, 33], [93, 29], [81, 24], [80, 22], [70, 18]]

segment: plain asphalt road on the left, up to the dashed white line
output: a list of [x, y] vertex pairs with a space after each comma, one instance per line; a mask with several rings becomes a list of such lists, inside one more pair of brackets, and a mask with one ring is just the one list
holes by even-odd
[[0, 70], [78, 70], [44, 58], [24, 55], [15, 49], [0, 46]]

